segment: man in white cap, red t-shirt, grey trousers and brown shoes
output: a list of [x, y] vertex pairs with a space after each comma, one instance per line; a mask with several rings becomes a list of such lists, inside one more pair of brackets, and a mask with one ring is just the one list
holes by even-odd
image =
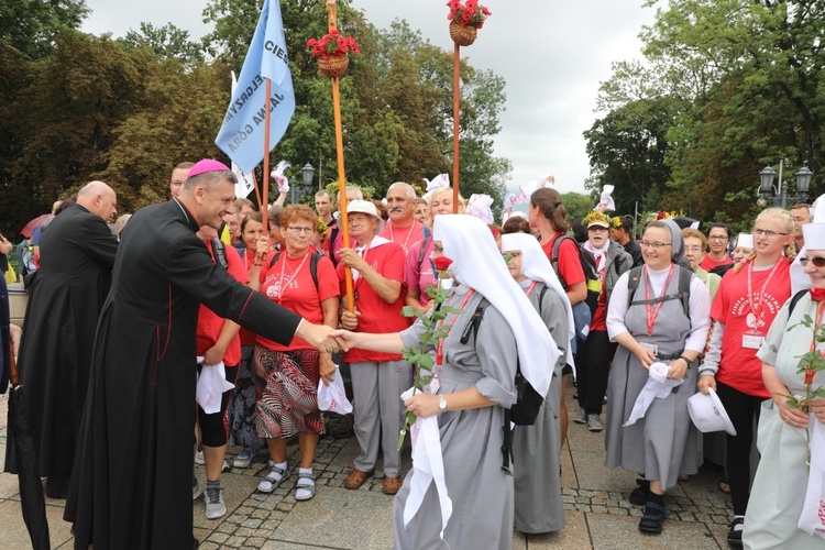
[[[352, 270], [355, 312], [344, 310], [341, 323], [360, 332], [398, 332], [410, 326], [402, 315], [404, 287], [404, 250], [400, 244], [377, 237], [381, 218], [375, 205], [353, 200], [346, 206], [350, 235], [356, 248], [341, 249], [338, 276], [341, 295], [345, 293], [344, 270]], [[343, 300], [346, 306], [346, 299]], [[400, 395], [413, 386], [413, 367], [400, 354], [352, 349], [344, 353], [352, 375], [355, 437], [361, 454], [344, 480], [344, 487], [359, 488], [372, 475], [384, 454], [384, 493], [394, 495], [402, 487], [402, 457], [397, 448], [404, 405]]]

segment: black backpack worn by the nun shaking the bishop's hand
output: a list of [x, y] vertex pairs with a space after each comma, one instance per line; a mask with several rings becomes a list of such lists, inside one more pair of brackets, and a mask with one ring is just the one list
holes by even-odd
[[[544, 300], [544, 293], [547, 286], [541, 289], [539, 294], [539, 306]], [[461, 343], [465, 344], [470, 340], [470, 332], [473, 333], [473, 339], [479, 338], [479, 326], [481, 324], [484, 311], [490, 306], [487, 298], [482, 298], [479, 306], [475, 308], [473, 317], [470, 319], [464, 332], [461, 334]], [[539, 307], [540, 309], [540, 307]], [[514, 378], [514, 387], [516, 388], [516, 403], [508, 409], [504, 410], [504, 443], [502, 444], [502, 470], [509, 472], [509, 462], [513, 458], [513, 433], [510, 430], [510, 422], [516, 426], [532, 426], [536, 424], [536, 418], [539, 416], [541, 404], [544, 403], [544, 397], [539, 395], [538, 392], [532, 387], [532, 384], [525, 378], [521, 374], [521, 365], [516, 359], [516, 377]]]

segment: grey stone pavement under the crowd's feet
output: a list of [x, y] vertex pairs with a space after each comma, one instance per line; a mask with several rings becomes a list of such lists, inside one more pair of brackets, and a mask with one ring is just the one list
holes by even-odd
[[[592, 433], [572, 422], [578, 405], [571, 385], [566, 402], [571, 418], [568, 444], [562, 451], [562, 485], [566, 527], [541, 536], [514, 532], [513, 548], [538, 549], [719, 549], [727, 548], [725, 536], [732, 514], [730, 499], [719, 492], [722, 474], [703, 466], [689, 481], [680, 482], [666, 497], [671, 509], [659, 536], [641, 535], [641, 508], [628, 503], [636, 487], [636, 475], [604, 466], [604, 432]], [[6, 455], [7, 396], [0, 396], [0, 461]], [[334, 426], [338, 420], [331, 424]], [[228, 460], [239, 451], [230, 448]], [[297, 463], [298, 449], [288, 447], [289, 464]], [[358, 454], [354, 437], [324, 437], [318, 446], [315, 472], [317, 495], [308, 502], [294, 497], [295, 474], [272, 494], [256, 492], [266, 474], [266, 457], [260, 454], [248, 469], [232, 469], [222, 476], [227, 515], [210, 520], [202, 498], [194, 503], [195, 536], [200, 548], [297, 550], [297, 549], [389, 549], [393, 546], [393, 497], [382, 493], [383, 471], [358, 491], [343, 488], [343, 481]], [[411, 465], [405, 453], [404, 472]], [[204, 466], [196, 475], [205, 483]], [[492, 495], [494, 497], [494, 495]], [[518, 498], [518, 495], [516, 495]], [[69, 525], [63, 521], [64, 501], [46, 498], [53, 548], [73, 548]], [[0, 540], [4, 549], [31, 548], [20, 512], [18, 480], [0, 474]], [[476, 550], [476, 549], [472, 549]]]

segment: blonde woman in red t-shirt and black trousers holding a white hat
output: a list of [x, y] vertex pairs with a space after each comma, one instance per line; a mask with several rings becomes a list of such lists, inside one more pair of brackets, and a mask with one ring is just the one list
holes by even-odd
[[737, 546], [741, 546], [749, 498], [754, 419], [759, 419], [760, 404], [772, 397], [756, 353], [791, 297], [795, 224], [791, 212], [781, 208], [769, 208], [757, 217], [754, 252], [722, 277], [716, 292], [707, 352], [698, 371], [698, 388], [704, 394], [710, 387], [716, 391], [736, 429], [736, 436], [727, 436], [725, 466], [734, 504], [727, 539]]

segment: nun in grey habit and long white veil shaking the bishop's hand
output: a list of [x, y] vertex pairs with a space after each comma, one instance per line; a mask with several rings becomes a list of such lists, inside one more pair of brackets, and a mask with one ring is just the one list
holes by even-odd
[[[502, 469], [505, 408], [516, 400], [516, 360], [534, 388], [546, 395], [561, 355], [524, 290], [509, 276], [487, 227], [471, 216], [439, 216], [433, 239], [453, 260], [455, 279], [446, 305], [463, 314], [443, 343], [443, 370], [438, 394], [418, 393], [405, 402], [419, 419], [436, 417], [443, 462], [443, 479], [451, 514], [444, 525], [436, 482], [424, 490], [422, 501], [405, 525], [407, 501], [414, 501], [415, 469], [395, 497], [393, 522], [397, 549], [508, 549], [513, 544], [513, 475]], [[477, 337], [461, 342], [482, 297], [490, 301]], [[506, 314], [506, 315], [505, 315]], [[418, 345], [420, 321], [400, 333], [365, 334], [336, 331], [348, 346], [398, 353]], [[419, 436], [420, 438], [420, 436]], [[419, 443], [420, 444], [420, 443]], [[415, 454], [415, 450], [414, 450]], [[558, 475], [558, 472], [557, 472]], [[443, 529], [443, 538], [442, 538]]]

